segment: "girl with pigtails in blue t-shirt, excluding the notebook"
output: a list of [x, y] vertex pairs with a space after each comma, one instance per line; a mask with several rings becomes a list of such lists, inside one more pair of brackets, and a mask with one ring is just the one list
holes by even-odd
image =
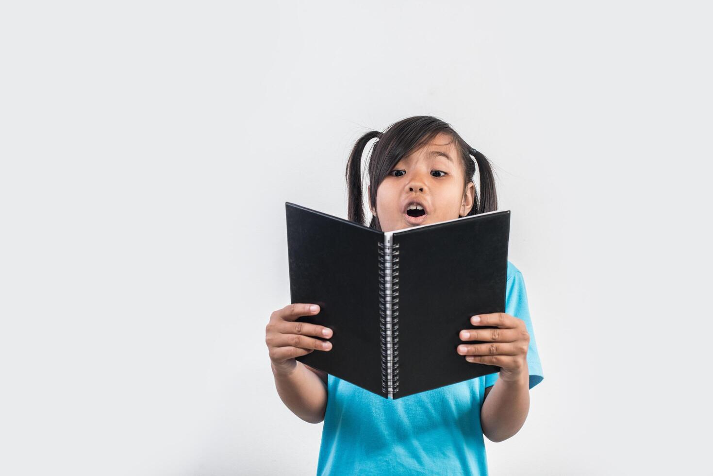
[[[349, 220], [364, 223], [361, 156], [374, 138], [369, 227], [394, 231], [497, 209], [486, 156], [448, 123], [415, 116], [356, 142], [347, 163]], [[479, 192], [473, 182], [476, 170]], [[423, 213], [409, 210], [413, 203]], [[461, 330], [463, 345], [456, 350], [468, 362], [500, 366], [499, 373], [385, 400], [294, 360], [332, 348], [331, 329], [294, 322], [317, 313], [319, 307], [309, 303], [275, 310], [265, 342], [284, 404], [302, 420], [324, 420], [318, 475], [487, 475], [483, 435], [493, 442], [515, 435], [528, 414], [529, 390], [543, 380], [525, 282], [509, 261], [506, 312], [473, 316], [471, 328]], [[478, 330], [479, 325], [497, 328]]]

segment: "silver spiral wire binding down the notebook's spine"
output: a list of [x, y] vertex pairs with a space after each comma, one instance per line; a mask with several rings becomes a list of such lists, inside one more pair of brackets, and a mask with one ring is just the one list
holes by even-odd
[[379, 243], [381, 391], [388, 398], [399, 391], [399, 244], [391, 240], [387, 234]]

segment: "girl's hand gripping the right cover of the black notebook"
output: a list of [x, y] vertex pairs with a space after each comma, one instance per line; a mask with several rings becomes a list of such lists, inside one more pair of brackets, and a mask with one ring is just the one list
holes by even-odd
[[[480, 318], [477, 320], [476, 318]], [[468, 362], [498, 365], [500, 378], [517, 382], [528, 373], [530, 333], [525, 321], [506, 313], [474, 315], [472, 325], [494, 325], [494, 329], [463, 329], [461, 340], [485, 340], [483, 344], [458, 345], [456, 352]]]

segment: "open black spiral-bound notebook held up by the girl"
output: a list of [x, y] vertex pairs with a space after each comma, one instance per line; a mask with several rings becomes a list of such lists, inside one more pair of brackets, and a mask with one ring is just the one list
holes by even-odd
[[334, 333], [332, 350], [297, 357], [386, 398], [496, 373], [456, 352], [471, 315], [505, 312], [510, 211], [381, 232], [285, 203], [298, 321]]

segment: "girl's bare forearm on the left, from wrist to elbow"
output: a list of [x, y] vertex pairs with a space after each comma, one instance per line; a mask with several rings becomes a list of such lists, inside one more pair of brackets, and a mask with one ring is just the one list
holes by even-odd
[[322, 379], [317, 377], [301, 362], [297, 362], [291, 373], [285, 374], [272, 367], [275, 377], [277, 394], [289, 410], [302, 420], [309, 423], [319, 423], [324, 420], [324, 410], [327, 408], [327, 387]]

